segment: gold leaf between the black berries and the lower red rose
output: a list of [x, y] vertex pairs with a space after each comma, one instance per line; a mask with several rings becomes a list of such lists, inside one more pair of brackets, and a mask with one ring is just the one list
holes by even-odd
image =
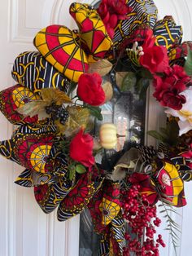
[[89, 122], [89, 109], [81, 107], [68, 107], [69, 117], [68, 121], [61, 125], [59, 121], [55, 121], [55, 125], [58, 126], [59, 131], [66, 135], [71, 136], [75, 134], [81, 127], [85, 128]]

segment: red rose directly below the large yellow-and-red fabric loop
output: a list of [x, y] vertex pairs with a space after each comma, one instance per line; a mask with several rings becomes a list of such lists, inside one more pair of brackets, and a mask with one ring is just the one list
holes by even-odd
[[102, 77], [98, 73], [82, 74], [78, 81], [77, 95], [89, 105], [102, 105], [105, 102]]

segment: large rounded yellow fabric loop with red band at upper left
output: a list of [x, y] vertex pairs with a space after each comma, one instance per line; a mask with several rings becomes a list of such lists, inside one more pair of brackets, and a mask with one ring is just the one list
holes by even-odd
[[60, 73], [77, 82], [88, 68], [85, 51], [77, 44], [77, 35], [61, 25], [41, 29], [34, 38], [34, 45], [46, 60]]

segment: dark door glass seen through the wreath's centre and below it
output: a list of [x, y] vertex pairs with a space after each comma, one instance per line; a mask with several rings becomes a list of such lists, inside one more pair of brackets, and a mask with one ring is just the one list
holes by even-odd
[[[111, 76], [111, 80], [112, 80]], [[120, 92], [116, 84], [114, 86], [114, 97], [111, 102], [102, 107], [103, 123], [112, 122], [116, 124], [118, 138], [116, 150], [106, 150], [105, 155], [98, 156], [97, 162], [102, 164], [104, 170], [111, 171], [121, 152], [131, 148], [133, 144], [143, 144], [145, 134], [146, 96], [140, 99], [136, 91]], [[94, 134], [98, 134], [101, 122], [96, 122]], [[80, 256], [98, 256], [100, 236], [94, 233], [89, 210], [81, 214], [80, 220]]]

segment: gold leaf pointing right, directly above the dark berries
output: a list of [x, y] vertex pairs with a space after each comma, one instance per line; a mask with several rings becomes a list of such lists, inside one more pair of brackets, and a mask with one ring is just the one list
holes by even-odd
[[72, 103], [72, 99], [70, 99], [68, 95], [66, 95], [62, 90], [55, 88], [41, 89], [41, 97], [47, 105], [50, 105], [52, 102], [55, 102], [57, 105]]

